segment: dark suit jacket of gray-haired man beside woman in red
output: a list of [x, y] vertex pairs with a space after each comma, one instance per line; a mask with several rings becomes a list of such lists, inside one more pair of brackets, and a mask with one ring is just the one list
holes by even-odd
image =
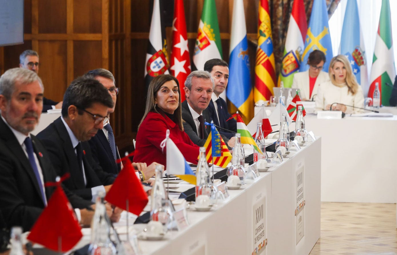
[[[204, 122], [211, 122], [210, 121], [210, 114], [208, 110], [205, 109], [202, 112], [202, 117], [204, 118]], [[197, 135], [197, 127], [195, 121], [193, 120], [193, 116], [190, 112], [189, 105], [187, 104], [187, 100], [182, 102], [182, 119], [183, 119], [183, 129], [185, 133], [189, 135], [190, 139], [193, 143], [197, 144], [198, 146], [204, 146], [205, 141], [207, 140], [208, 134], [211, 131], [210, 126], [204, 126], [204, 139], [200, 139]]]

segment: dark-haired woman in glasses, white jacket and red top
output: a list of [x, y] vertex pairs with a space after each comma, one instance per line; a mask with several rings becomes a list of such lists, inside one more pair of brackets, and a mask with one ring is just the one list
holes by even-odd
[[309, 70], [295, 73], [292, 82], [293, 89], [299, 89], [302, 101], [314, 100], [318, 86], [330, 80], [328, 73], [322, 71], [326, 62], [325, 54], [321, 50], [313, 50], [308, 57]]

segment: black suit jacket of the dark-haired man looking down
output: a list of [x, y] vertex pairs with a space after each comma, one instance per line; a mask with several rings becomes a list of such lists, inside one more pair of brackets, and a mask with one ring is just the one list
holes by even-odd
[[73, 148], [66, 127], [61, 117], [54, 120], [48, 127], [37, 134], [44, 147], [50, 154], [50, 160], [59, 176], [70, 173], [70, 178], [64, 185], [84, 199], [91, 200], [91, 188], [100, 185], [110, 185], [114, 182], [114, 176], [106, 173], [94, 161], [88, 142], [81, 142], [83, 150], [83, 164], [87, 185], [84, 184], [83, 174], [80, 171], [75, 149]]

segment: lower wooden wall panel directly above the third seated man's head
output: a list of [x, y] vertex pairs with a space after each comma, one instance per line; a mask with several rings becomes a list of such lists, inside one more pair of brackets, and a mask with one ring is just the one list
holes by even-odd
[[73, 41], [73, 72], [75, 77], [102, 66], [101, 41]]

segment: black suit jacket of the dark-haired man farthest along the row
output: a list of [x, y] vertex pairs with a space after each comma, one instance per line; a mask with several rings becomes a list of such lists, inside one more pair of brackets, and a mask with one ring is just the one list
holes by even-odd
[[[222, 109], [220, 109], [220, 112], [218, 114], [219, 114], [219, 116], [222, 115], [222, 118], [220, 117], [219, 122], [218, 122], [218, 117], [216, 116], [216, 111], [215, 111], [215, 105], [214, 105], [214, 102], [212, 102], [212, 100], [211, 100], [210, 104], [208, 104], [208, 108], [207, 108], [208, 112], [210, 113], [211, 120], [214, 121], [214, 124], [216, 126], [220, 126], [225, 129], [237, 132], [237, 121], [234, 118], [231, 118], [230, 120], [226, 121], [228, 118], [230, 118], [231, 115], [227, 111], [227, 104], [226, 104], [225, 100], [220, 97], [219, 101], [222, 106]], [[235, 133], [228, 132], [228, 131], [225, 131], [222, 129], [219, 129], [218, 131], [221, 135], [224, 135], [228, 139], [230, 139], [231, 137], [233, 137], [235, 135]]]

